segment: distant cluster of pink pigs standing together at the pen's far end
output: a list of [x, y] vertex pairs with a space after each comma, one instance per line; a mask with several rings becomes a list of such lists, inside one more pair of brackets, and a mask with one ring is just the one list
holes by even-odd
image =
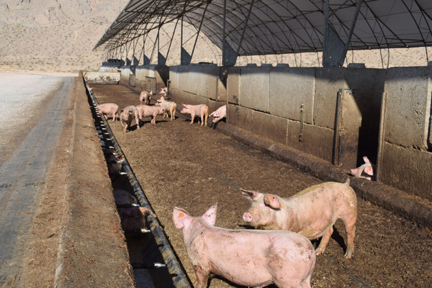
[[[127, 129], [130, 129], [132, 120], [135, 120], [137, 128], [140, 129], [140, 121], [142, 121], [143, 117], [151, 117], [150, 123], [156, 124], [157, 115], [164, 115], [164, 118], [166, 118], [169, 112], [171, 121], [175, 119], [177, 104], [174, 101], [165, 100], [167, 91], [167, 87], [160, 89], [160, 98], [156, 100], [153, 106], [149, 105], [153, 92], [142, 91], [140, 93], [140, 104], [138, 106], [129, 105], [120, 109], [116, 103], [103, 103], [96, 106], [96, 109], [105, 116], [113, 117], [113, 122], [119, 118], [120, 124], [123, 127], [123, 132], [126, 133]], [[180, 113], [191, 114], [191, 124], [194, 123], [195, 117], [198, 116], [201, 126], [207, 125], [207, 118], [209, 115], [208, 106], [206, 104], [182, 104], [182, 106], [183, 109], [180, 110]], [[226, 105], [211, 113], [210, 116], [213, 116], [213, 123], [224, 118], [226, 116]]]

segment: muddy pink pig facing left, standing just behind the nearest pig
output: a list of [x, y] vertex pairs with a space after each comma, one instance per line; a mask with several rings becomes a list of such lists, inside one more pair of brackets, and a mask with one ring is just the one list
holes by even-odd
[[252, 201], [249, 211], [243, 214], [245, 222], [255, 228], [298, 232], [309, 240], [322, 237], [315, 249], [316, 255], [324, 253], [333, 233], [333, 225], [337, 219], [342, 219], [347, 235], [344, 256], [353, 256], [357, 196], [349, 187], [349, 181], [345, 184], [324, 182], [288, 198], [240, 190]]

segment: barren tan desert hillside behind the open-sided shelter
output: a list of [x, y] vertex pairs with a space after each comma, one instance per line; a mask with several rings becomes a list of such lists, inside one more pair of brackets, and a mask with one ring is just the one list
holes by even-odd
[[[102, 57], [99, 51], [92, 51], [97, 41], [120, 11], [127, 0], [0, 0], [0, 68], [8, 66], [25, 70], [74, 72], [79, 69], [98, 70]], [[165, 31], [171, 35], [174, 25], [167, 25]], [[185, 29], [185, 39], [193, 36], [191, 29]], [[165, 35], [165, 38], [168, 36]], [[175, 32], [167, 65], [179, 64], [179, 35]], [[200, 35], [204, 36], [204, 35]], [[161, 35], [163, 38], [164, 35]], [[191, 38], [192, 39], [192, 38]], [[186, 43], [191, 46], [194, 41]], [[147, 47], [150, 45], [146, 44]], [[168, 45], [161, 47], [165, 55]], [[138, 48], [139, 47], [138, 45]], [[191, 49], [189, 49], [190, 51]], [[429, 54], [432, 49], [429, 48]], [[150, 52], [146, 54], [151, 54]], [[206, 61], [220, 64], [220, 51], [209, 41], [200, 39], [192, 62]], [[150, 56], [150, 55], [148, 55]], [[392, 49], [388, 51], [348, 51], [348, 63], [365, 63], [369, 68], [389, 66], [425, 66], [425, 48]], [[430, 59], [431, 57], [429, 57]], [[153, 62], [157, 59], [153, 58]], [[142, 60], [141, 60], [142, 61]], [[241, 57], [237, 65], [247, 63], [288, 63], [290, 66], [319, 66], [321, 54], [305, 53], [283, 56]], [[140, 62], [142, 63], [142, 62]]]

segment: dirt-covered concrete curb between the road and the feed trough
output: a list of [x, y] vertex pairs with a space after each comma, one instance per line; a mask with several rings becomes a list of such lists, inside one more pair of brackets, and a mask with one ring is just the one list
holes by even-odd
[[111, 181], [83, 78], [74, 81], [73, 132], [55, 287], [134, 287]]

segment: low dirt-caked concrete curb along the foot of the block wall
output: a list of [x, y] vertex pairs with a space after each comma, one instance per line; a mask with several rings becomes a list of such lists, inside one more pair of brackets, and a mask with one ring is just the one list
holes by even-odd
[[432, 205], [423, 203], [414, 196], [380, 182], [350, 176], [327, 161], [261, 138], [232, 124], [220, 122], [215, 129], [324, 181], [345, 182], [349, 178], [350, 186], [357, 196], [432, 229]]

